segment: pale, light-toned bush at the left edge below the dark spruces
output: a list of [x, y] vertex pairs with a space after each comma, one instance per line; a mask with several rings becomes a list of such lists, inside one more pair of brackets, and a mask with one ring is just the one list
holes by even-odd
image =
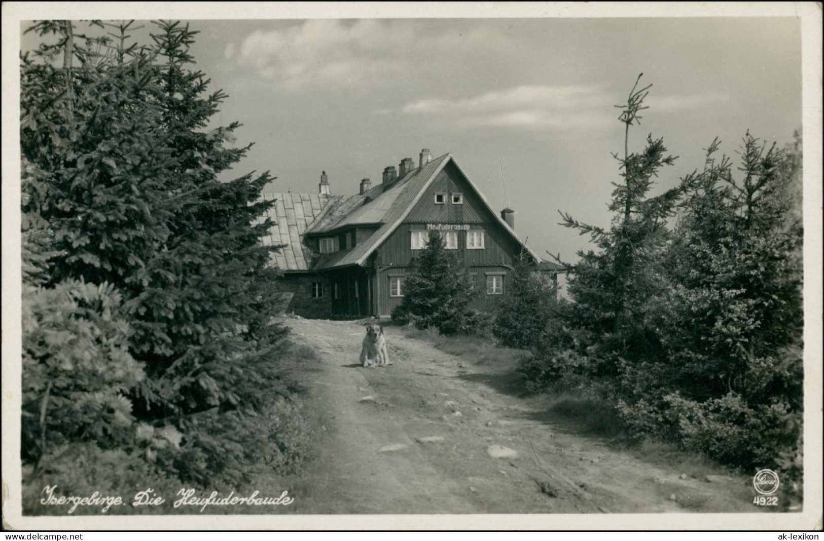
[[22, 308], [24, 456], [40, 461], [71, 441], [131, 442], [127, 394], [144, 374], [129, 354], [131, 328], [115, 287], [26, 286]]

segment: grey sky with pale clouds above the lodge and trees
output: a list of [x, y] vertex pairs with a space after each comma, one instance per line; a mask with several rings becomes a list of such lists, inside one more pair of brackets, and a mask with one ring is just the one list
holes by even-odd
[[269, 170], [270, 191], [316, 193], [325, 170], [333, 194], [354, 194], [424, 147], [450, 152], [538, 254], [570, 262], [588, 237], [559, 211], [609, 224], [615, 106], [639, 73], [653, 86], [630, 152], [652, 134], [679, 156], [658, 190], [700, 168], [715, 137], [737, 156], [747, 130], [783, 147], [802, 127], [798, 18], [501, 15], [188, 22], [196, 68], [229, 96], [215, 122], [241, 122], [236, 144], [255, 143], [236, 175]]

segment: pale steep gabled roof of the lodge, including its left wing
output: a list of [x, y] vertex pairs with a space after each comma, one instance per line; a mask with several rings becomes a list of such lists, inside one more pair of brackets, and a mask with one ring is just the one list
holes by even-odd
[[[383, 241], [405, 220], [428, 186], [450, 161], [472, 185], [461, 166], [458, 166], [450, 154], [445, 154], [429, 161], [424, 167], [410, 171], [403, 178], [393, 180], [387, 186], [378, 184], [364, 194], [350, 196], [263, 194], [266, 198], [278, 199], [276, 208], [269, 213], [273, 222], [278, 225], [272, 228], [271, 237], [274, 241], [269, 240], [268, 244], [288, 244], [288, 247], [283, 249], [283, 254], [275, 254], [275, 262], [279, 268], [287, 271], [310, 270], [307, 261], [311, 261], [311, 254], [302, 245], [303, 236], [329, 234], [353, 226], [378, 226], [377, 231], [354, 248], [334, 254], [322, 254], [311, 270], [365, 264], [377, 247], [382, 245]], [[507, 222], [503, 221], [498, 212], [489, 206], [484, 194], [481, 194], [474, 185], [472, 188], [475, 189], [481, 202], [503, 230], [507, 231], [519, 245], [524, 245]], [[295, 212], [288, 212], [288, 206], [292, 206]], [[300, 217], [297, 208], [302, 210]], [[267, 244], [266, 239], [264, 243]], [[536, 261], [541, 261], [541, 258], [528, 247], [527, 252]]]

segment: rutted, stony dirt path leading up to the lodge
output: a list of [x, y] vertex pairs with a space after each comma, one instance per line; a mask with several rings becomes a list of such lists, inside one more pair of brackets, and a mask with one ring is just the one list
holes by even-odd
[[[494, 367], [405, 338], [401, 329], [386, 329], [394, 364], [363, 368], [363, 325], [292, 319], [289, 326], [322, 358], [305, 381], [320, 408], [318, 456], [299, 477], [278, 482], [295, 497], [291, 512], [757, 511], [749, 479], [708, 482], [683, 476], [680, 464], [662, 469], [611, 450], [504, 392], [505, 375]], [[442, 440], [420, 441], [433, 436]], [[494, 458], [494, 445], [517, 455]]]

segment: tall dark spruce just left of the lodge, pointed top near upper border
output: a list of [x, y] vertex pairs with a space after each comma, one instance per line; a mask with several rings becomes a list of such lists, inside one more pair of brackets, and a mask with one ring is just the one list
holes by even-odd
[[270, 321], [278, 273], [267, 267], [270, 250], [260, 243], [268, 224], [254, 225], [272, 204], [259, 201], [272, 178], [268, 173], [218, 178], [249, 148], [225, 146], [240, 124], [208, 129], [227, 96], [207, 94], [208, 79], [189, 68], [197, 32], [177, 22], [157, 24], [155, 97], [167, 144], [174, 149], [164, 171], [170, 233], [138, 272], [144, 286], [134, 303], [133, 342], [148, 374], [157, 376], [155, 388], [144, 389], [149, 402], [167, 413], [191, 413], [236, 405], [242, 394], [251, 393], [246, 399], [252, 399], [250, 389], [263, 376], [241, 374], [237, 359], [252, 361], [259, 347], [282, 336]]

